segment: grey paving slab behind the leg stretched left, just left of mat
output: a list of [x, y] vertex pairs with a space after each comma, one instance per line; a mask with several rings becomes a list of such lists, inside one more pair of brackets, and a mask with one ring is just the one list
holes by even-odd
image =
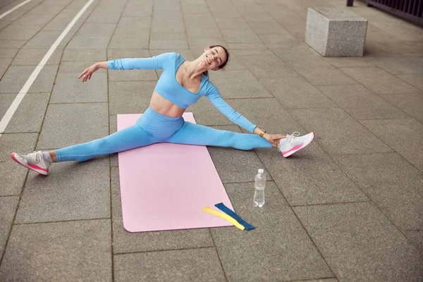
[[105, 103], [50, 104], [37, 148], [58, 149], [108, 135], [107, 108]]

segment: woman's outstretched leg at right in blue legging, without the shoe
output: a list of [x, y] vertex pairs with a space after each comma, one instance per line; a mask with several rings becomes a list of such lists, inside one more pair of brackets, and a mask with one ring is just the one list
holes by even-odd
[[267, 140], [255, 134], [218, 130], [188, 121], [185, 121], [182, 128], [169, 137], [166, 142], [188, 145], [233, 147], [242, 150], [271, 147], [271, 142], [267, 142]]

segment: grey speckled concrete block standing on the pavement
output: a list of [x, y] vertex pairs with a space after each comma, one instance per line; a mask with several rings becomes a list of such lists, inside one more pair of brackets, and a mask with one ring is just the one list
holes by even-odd
[[363, 56], [367, 20], [341, 8], [309, 8], [305, 42], [322, 56]]

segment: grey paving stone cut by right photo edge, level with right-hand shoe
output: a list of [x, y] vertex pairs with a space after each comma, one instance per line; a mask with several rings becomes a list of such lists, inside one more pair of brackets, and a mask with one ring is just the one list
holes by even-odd
[[423, 172], [422, 123], [414, 118], [360, 122]]

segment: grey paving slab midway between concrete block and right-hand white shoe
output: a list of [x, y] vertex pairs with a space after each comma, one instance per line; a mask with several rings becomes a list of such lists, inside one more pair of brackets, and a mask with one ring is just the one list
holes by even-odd
[[286, 109], [337, 106], [304, 78], [261, 78], [260, 82]]

